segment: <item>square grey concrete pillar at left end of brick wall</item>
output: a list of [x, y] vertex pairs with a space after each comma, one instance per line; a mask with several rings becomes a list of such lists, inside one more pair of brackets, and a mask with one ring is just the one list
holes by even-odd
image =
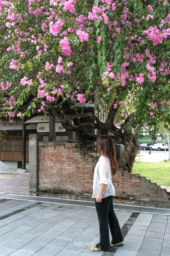
[[38, 191], [38, 141], [41, 134], [29, 135], [29, 191], [27, 195], [37, 196]]

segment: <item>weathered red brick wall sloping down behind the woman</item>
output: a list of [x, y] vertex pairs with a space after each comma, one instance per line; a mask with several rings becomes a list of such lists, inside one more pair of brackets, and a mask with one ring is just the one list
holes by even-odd
[[[38, 142], [39, 195], [94, 201], [92, 166], [99, 155], [79, 143]], [[170, 195], [140, 174], [112, 177], [115, 203], [170, 208]]]

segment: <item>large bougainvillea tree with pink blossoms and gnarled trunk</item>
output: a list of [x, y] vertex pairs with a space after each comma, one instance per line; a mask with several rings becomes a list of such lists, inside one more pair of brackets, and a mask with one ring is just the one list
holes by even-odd
[[[29, 116], [40, 101], [39, 112], [50, 108], [65, 129], [86, 139], [97, 140], [87, 127], [98, 129], [98, 136], [108, 129], [114, 142], [125, 145], [119, 166], [131, 172], [138, 149], [131, 127], [169, 122], [168, 1], [0, 0], [0, 27], [1, 114]], [[106, 122], [78, 114], [73, 100], [106, 109]], [[116, 115], [122, 116], [121, 129]], [[82, 124], [85, 116], [95, 123]]]

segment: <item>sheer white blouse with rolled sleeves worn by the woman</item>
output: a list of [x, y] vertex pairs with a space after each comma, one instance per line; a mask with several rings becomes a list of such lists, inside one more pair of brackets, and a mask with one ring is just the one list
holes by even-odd
[[115, 189], [112, 184], [110, 160], [106, 156], [100, 156], [99, 161], [95, 166], [92, 198], [97, 197], [100, 189], [100, 184], [102, 183], [106, 184], [106, 187], [102, 194], [102, 198], [108, 197], [109, 195], [115, 196]]

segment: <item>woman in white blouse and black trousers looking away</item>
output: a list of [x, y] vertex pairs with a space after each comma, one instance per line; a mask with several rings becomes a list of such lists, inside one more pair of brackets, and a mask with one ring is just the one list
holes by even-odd
[[[109, 136], [101, 136], [97, 144], [97, 152], [101, 156], [94, 169], [92, 198], [95, 198], [100, 242], [90, 247], [90, 251], [107, 251], [113, 246], [123, 245], [122, 233], [113, 207], [115, 190], [112, 184], [112, 174], [116, 174], [118, 163], [114, 144]], [[109, 228], [112, 235], [111, 243], [109, 240]]]

